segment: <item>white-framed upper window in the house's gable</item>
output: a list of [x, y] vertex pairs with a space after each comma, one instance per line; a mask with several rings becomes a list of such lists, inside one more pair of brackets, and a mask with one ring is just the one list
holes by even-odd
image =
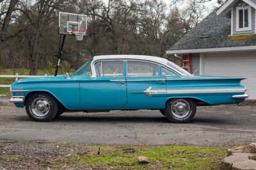
[[252, 12], [250, 6], [236, 8], [236, 31], [252, 30]]

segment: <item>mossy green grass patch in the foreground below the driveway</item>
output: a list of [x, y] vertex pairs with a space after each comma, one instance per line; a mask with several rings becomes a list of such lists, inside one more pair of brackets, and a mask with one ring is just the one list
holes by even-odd
[[[95, 146], [101, 154], [71, 154], [70, 167], [102, 166], [106, 169], [219, 169], [227, 152], [221, 148], [200, 146]], [[145, 156], [148, 165], [138, 164], [138, 157]]]

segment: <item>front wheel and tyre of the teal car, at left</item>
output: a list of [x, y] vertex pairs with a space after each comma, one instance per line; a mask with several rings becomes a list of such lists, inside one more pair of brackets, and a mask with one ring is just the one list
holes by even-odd
[[38, 122], [49, 122], [56, 117], [58, 104], [49, 94], [32, 94], [26, 101], [28, 116]]

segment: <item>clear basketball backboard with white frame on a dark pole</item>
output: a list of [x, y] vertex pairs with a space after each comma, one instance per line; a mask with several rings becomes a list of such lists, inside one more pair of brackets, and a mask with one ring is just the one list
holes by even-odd
[[87, 16], [76, 13], [59, 13], [59, 34], [75, 35], [77, 33], [86, 34]]

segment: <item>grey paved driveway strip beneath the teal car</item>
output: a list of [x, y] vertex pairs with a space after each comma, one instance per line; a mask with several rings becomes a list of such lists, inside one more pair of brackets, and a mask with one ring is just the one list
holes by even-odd
[[118, 145], [222, 146], [256, 141], [256, 106], [198, 107], [190, 124], [171, 124], [159, 111], [64, 113], [31, 122], [24, 108], [0, 103], [0, 139]]

